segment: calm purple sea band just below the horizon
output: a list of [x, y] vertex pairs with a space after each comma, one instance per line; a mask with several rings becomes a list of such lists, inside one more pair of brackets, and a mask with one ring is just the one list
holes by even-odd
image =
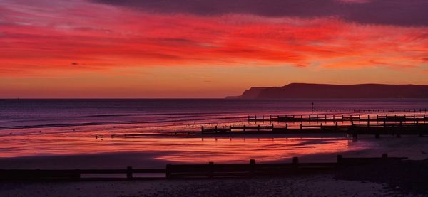
[[[428, 100], [0, 100], [0, 129], [85, 124], [224, 122], [248, 115], [294, 115], [315, 110], [423, 109]], [[313, 112], [317, 113], [317, 112]], [[156, 126], [156, 125], [155, 125]]]

